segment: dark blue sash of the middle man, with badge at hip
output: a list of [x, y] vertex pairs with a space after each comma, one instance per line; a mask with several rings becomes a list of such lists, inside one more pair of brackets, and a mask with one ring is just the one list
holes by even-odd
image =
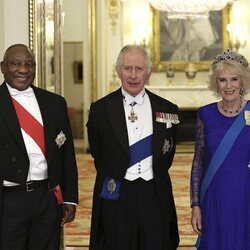
[[[129, 147], [130, 161], [128, 167], [152, 155], [153, 135], [149, 135]], [[102, 185], [100, 197], [106, 200], [118, 200], [120, 193], [120, 180], [106, 177]]]

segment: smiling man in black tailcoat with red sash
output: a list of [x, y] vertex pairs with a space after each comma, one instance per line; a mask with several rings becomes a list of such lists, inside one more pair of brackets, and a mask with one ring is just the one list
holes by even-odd
[[36, 63], [24, 44], [1, 62], [1, 250], [57, 250], [78, 203], [77, 167], [63, 97], [32, 85]]

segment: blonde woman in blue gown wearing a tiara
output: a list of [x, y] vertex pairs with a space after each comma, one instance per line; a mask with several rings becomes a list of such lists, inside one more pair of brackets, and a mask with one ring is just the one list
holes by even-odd
[[209, 89], [221, 100], [199, 108], [191, 171], [191, 224], [199, 250], [250, 249], [250, 70], [242, 55], [215, 57]]

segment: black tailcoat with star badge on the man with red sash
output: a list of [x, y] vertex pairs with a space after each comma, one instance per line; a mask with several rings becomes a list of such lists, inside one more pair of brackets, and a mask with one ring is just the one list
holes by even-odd
[[[31, 87], [43, 119], [49, 188], [60, 185], [64, 200], [78, 203], [77, 167], [66, 101], [60, 95]], [[59, 148], [55, 139], [61, 131], [67, 139]], [[26, 182], [29, 158], [6, 83], [0, 86], [0, 159], [0, 187], [3, 180]]]

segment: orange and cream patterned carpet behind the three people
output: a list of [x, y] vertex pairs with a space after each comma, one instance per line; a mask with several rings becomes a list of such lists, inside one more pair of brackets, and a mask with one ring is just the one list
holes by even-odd
[[[193, 153], [186, 149], [183, 150], [182, 148], [177, 150], [177, 152], [170, 170], [170, 175], [178, 215], [180, 246], [192, 247], [190, 249], [193, 249], [196, 236], [190, 225], [191, 209], [189, 206], [190, 166]], [[80, 203], [77, 208], [75, 221], [68, 224], [65, 228], [64, 241], [66, 246], [87, 247], [89, 242], [95, 169], [93, 167], [93, 160], [88, 154], [77, 154], [77, 162]]]

